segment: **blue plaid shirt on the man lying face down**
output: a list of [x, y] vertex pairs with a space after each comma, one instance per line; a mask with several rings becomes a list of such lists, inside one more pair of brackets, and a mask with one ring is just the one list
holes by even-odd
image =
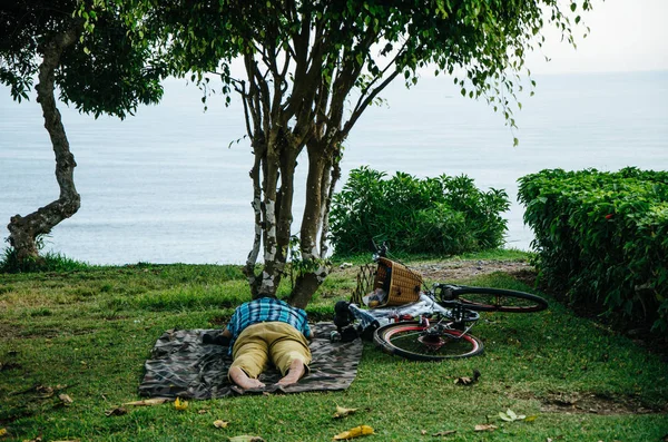
[[273, 297], [261, 297], [244, 303], [234, 311], [227, 324], [227, 330], [232, 333], [229, 352], [232, 353], [236, 338], [248, 325], [261, 322], [284, 322], [302, 332], [304, 336], [311, 335], [306, 312]]

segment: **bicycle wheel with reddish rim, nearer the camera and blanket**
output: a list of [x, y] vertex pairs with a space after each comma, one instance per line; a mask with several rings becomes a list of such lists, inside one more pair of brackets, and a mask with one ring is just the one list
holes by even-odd
[[475, 336], [459, 330], [430, 333], [428, 328], [415, 321], [387, 324], [375, 331], [373, 340], [385, 353], [411, 361], [443, 361], [482, 353], [482, 342]]

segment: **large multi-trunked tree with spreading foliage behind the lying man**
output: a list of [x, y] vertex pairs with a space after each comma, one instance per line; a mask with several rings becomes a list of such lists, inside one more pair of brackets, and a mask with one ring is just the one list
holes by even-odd
[[[487, 99], [514, 125], [512, 104], [528, 73], [525, 53], [557, 26], [571, 23], [588, 0], [95, 0], [92, 11], [124, 8], [129, 28], [181, 75], [205, 89], [238, 92], [254, 154], [256, 235], [246, 263], [254, 294], [274, 293], [292, 236], [294, 170], [307, 156], [306, 200], [298, 234], [299, 276], [291, 301], [305, 305], [328, 269], [327, 215], [340, 176], [342, 144], [364, 110], [397, 77], [421, 69], [453, 79], [462, 95]], [[230, 68], [242, 60], [238, 78]], [[256, 273], [263, 252], [264, 267]]]

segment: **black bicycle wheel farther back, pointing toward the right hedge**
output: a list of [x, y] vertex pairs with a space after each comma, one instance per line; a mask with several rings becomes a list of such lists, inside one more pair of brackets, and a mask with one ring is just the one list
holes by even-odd
[[452, 294], [465, 308], [478, 312], [531, 313], [548, 308], [540, 296], [504, 288], [459, 287]]

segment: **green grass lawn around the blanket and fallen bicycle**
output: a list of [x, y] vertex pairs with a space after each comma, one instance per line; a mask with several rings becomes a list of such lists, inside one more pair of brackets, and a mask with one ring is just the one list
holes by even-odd
[[[494, 255], [497, 256], [497, 255]], [[521, 254], [466, 256], [521, 259]], [[308, 306], [328, 318], [354, 288], [355, 268], [335, 272]], [[532, 292], [505, 274], [466, 283]], [[281, 293], [287, 294], [286, 283]], [[105, 412], [139, 400], [144, 362], [168, 328], [220, 326], [248, 298], [238, 266], [77, 267], [0, 274], [0, 441], [328, 441], [353, 426], [369, 441], [659, 441], [668, 434], [668, 366], [660, 356], [550, 299], [531, 315], [485, 314], [474, 328], [482, 356], [414, 363], [366, 344], [345, 392], [240, 396]], [[460, 376], [481, 372], [471, 386]], [[56, 393], [42, 397], [35, 386]], [[61, 405], [58, 395], [72, 399]], [[343, 420], [336, 405], [356, 407]], [[505, 423], [511, 409], [536, 416]], [[595, 412], [596, 411], [596, 412]], [[228, 421], [216, 429], [215, 420]], [[492, 423], [493, 432], [475, 432]], [[440, 431], [455, 430], [445, 438]], [[422, 434], [424, 432], [424, 434]]]

